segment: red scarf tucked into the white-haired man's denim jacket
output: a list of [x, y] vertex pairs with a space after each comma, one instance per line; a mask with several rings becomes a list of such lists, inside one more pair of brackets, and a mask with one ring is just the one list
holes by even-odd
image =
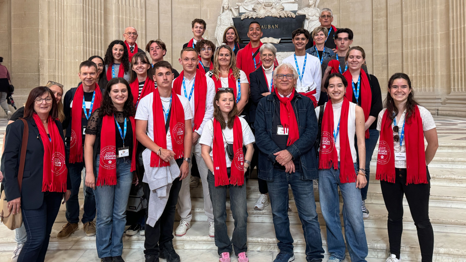
[[281, 97], [278, 92], [275, 92], [275, 95], [280, 100], [280, 123], [283, 128], [288, 129], [288, 141], [286, 145], [291, 146], [299, 139], [298, 121], [296, 121], [295, 110], [291, 105], [295, 92], [292, 92], [290, 97]]

